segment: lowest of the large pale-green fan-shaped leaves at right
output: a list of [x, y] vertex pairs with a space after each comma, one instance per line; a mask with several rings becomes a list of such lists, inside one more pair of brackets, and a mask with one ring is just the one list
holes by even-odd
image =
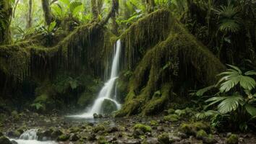
[[220, 104], [218, 104], [218, 111], [221, 114], [226, 114], [228, 112], [234, 111], [239, 107], [239, 104], [243, 101], [242, 96], [227, 96]]

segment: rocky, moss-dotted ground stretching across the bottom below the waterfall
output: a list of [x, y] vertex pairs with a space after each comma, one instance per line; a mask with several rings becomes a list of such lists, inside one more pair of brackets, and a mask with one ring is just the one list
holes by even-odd
[[[216, 132], [205, 122], [192, 124], [187, 118], [177, 120], [176, 117], [168, 116], [161, 114], [154, 117], [82, 120], [57, 114], [41, 115], [27, 111], [9, 117], [4, 125], [1, 125], [1, 130], [7, 137], [15, 139], [19, 138], [25, 130], [38, 129], [38, 140], [55, 140], [56, 143], [64, 144], [226, 143], [231, 135], [231, 132]], [[208, 134], [204, 134], [202, 130]], [[238, 136], [239, 143], [256, 143], [255, 134], [234, 133]]]

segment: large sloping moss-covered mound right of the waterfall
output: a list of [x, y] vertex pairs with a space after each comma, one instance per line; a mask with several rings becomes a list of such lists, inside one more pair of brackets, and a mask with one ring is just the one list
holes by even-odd
[[[169, 14], [168, 11], [161, 12]], [[187, 71], [196, 76], [194, 84], [213, 84], [216, 74], [224, 70], [225, 66], [218, 58], [190, 35], [171, 14], [168, 16], [166, 21], [171, 22], [168, 37], [149, 50], [145, 48], [147, 52], [129, 81], [129, 94], [122, 109], [117, 112], [117, 117], [161, 112], [174, 95], [174, 86], [186, 78], [186, 74], [180, 70], [193, 68], [193, 71]]]

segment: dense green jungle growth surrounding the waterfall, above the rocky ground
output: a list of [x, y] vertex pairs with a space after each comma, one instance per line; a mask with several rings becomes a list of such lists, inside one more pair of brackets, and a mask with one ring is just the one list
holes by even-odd
[[93, 104], [116, 40], [122, 107], [113, 117], [165, 114], [207, 140], [199, 121], [255, 132], [254, 0], [0, 0], [0, 131], [27, 109], [65, 115]]

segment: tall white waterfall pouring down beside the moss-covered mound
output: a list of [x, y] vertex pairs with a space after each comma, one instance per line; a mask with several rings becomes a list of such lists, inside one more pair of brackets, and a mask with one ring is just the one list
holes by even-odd
[[112, 96], [112, 91], [116, 87], [114, 86], [116, 84], [116, 78], [118, 78], [119, 73], [119, 59], [121, 54], [121, 40], [118, 40], [116, 42], [115, 48], [115, 54], [114, 59], [112, 62], [111, 67], [111, 76], [108, 79], [108, 81], [104, 84], [103, 88], [101, 89], [100, 93], [98, 94], [98, 98], [95, 100], [93, 106], [88, 110], [88, 112], [85, 112], [84, 114], [80, 115], [73, 115], [72, 117], [83, 117], [83, 118], [93, 118], [93, 114], [101, 114], [101, 109], [104, 100], [109, 100], [113, 102], [116, 105], [117, 109], [121, 108], [121, 104], [119, 104], [116, 101], [116, 90], [114, 90], [115, 94]]

